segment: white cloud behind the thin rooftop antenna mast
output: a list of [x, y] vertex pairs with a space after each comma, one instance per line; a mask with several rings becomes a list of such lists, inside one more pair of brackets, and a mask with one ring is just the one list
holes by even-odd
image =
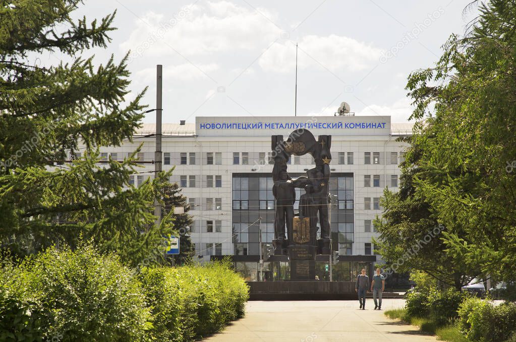
[[[305, 36], [298, 44], [298, 69], [315, 66], [331, 71], [360, 71], [377, 62], [381, 53], [381, 49], [370, 44], [336, 35]], [[272, 45], [259, 63], [266, 71], [292, 72], [295, 60], [296, 45], [287, 41]]]

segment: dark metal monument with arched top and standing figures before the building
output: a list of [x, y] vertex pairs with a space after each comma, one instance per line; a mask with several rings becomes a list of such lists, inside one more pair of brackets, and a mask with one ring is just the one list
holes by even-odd
[[[305, 129], [292, 132], [286, 141], [283, 135], [272, 135], [274, 166], [272, 192], [275, 201], [275, 255], [288, 255], [291, 280], [314, 280], [315, 256], [330, 254], [329, 179], [331, 135], [314, 135]], [[288, 176], [287, 161], [292, 156], [309, 153], [315, 167], [307, 176]], [[294, 212], [296, 188], [304, 189], [299, 198], [299, 212]], [[317, 231], [320, 228], [320, 238]], [[285, 235], [286, 233], [286, 235]]]

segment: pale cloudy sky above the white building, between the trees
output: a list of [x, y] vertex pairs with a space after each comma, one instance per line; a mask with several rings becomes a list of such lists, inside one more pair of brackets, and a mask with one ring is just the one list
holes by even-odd
[[468, 3], [88, 0], [74, 16], [117, 10], [109, 48], [85, 55], [104, 62], [131, 50], [131, 96], [149, 86], [149, 108], [155, 108], [156, 64], [163, 64], [165, 123], [294, 115], [296, 43], [298, 115], [333, 115], [347, 101], [357, 115], [406, 122], [407, 76], [432, 66], [450, 33], [464, 32], [476, 14], [464, 12]]

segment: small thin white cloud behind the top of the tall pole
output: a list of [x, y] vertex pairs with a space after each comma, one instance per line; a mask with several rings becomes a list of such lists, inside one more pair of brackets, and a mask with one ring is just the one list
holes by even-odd
[[[178, 79], [178, 80], [191, 80], [205, 77], [204, 73], [210, 73], [219, 69], [219, 66], [215, 63], [211, 64], [180, 64], [180, 65], [167, 65], [164, 67], [163, 77]], [[153, 67], [140, 70], [136, 73], [141, 80], [153, 80], [156, 77], [156, 70]]]

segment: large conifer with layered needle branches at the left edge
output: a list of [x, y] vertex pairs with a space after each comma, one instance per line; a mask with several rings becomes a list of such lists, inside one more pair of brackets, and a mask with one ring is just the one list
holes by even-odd
[[[74, 247], [83, 238], [137, 264], [172, 232], [168, 218], [156, 227], [152, 215], [169, 175], [135, 188], [134, 155], [98, 163], [99, 146], [132, 139], [145, 107], [143, 92], [125, 102], [127, 55], [96, 67], [93, 57], [83, 57], [89, 48], [107, 47], [115, 13], [88, 23], [71, 19], [78, 0], [0, 3], [2, 247], [24, 254], [52, 244]], [[35, 66], [44, 53], [72, 62]], [[83, 157], [63, 164], [79, 146]]]

